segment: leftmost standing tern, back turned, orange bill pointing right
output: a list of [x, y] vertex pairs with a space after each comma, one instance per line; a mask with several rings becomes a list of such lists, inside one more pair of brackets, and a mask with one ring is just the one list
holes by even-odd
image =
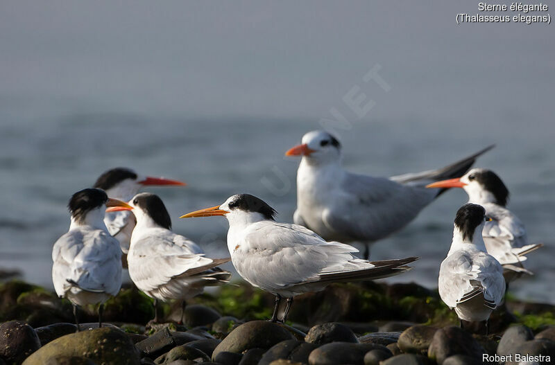
[[77, 320], [77, 306], [99, 304], [102, 326], [103, 303], [121, 287], [121, 249], [104, 224], [106, 207], [126, 207], [96, 188], [75, 193], [69, 200], [69, 231], [52, 249], [52, 281], [56, 294], [71, 301]]

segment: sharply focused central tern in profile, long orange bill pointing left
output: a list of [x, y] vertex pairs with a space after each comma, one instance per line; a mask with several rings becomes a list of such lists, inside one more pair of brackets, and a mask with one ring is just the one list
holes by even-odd
[[230, 224], [228, 250], [237, 273], [250, 285], [275, 295], [271, 320], [278, 321], [282, 298], [287, 319], [293, 297], [317, 292], [336, 281], [385, 278], [410, 269], [407, 263], [418, 258], [369, 262], [353, 255], [355, 247], [326, 242], [297, 224], [275, 222], [275, 210], [257, 197], [238, 194], [220, 206], [194, 211], [187, 217], [224, 215]]

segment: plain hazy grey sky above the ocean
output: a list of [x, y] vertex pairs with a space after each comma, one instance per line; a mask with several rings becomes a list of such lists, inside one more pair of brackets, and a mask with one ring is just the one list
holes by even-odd
[[310, 119], [359, 84], [368, 118], [549, 125], [555, 25], [458, 12], [477, 2], [2, 1], [0, 109]]

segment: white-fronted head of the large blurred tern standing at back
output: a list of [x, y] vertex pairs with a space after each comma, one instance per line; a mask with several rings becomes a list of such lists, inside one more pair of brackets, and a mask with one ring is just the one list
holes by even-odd
[[341, 159], [341, 143], [332, 134], [314, 130], [302, 136], [301, 144], [287, 152], [286, 156], [302, 156], [309, 163], [329, 163]]

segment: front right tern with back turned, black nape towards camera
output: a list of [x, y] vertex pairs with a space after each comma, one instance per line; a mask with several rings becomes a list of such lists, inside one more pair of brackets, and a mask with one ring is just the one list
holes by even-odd
[[[453, 240], [441, 262], [438, 289], [441, 300], [463, 321], [486, 321], [505, 294], [503, 267], [486, 253], [481, 236], [486, 210], [465, 204], [456, 212]], [[461, 321], [462, 327], [462, 321]]]

